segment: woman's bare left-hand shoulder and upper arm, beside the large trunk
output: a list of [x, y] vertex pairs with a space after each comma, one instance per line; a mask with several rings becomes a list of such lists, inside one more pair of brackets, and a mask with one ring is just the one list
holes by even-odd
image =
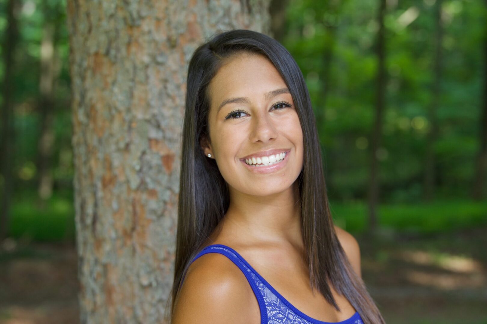
[[253, 296], [244, 273], [230, 259], [207, 253], [189, 266], [171, 324], [248, 323], [242, 314], [254, 306]]

